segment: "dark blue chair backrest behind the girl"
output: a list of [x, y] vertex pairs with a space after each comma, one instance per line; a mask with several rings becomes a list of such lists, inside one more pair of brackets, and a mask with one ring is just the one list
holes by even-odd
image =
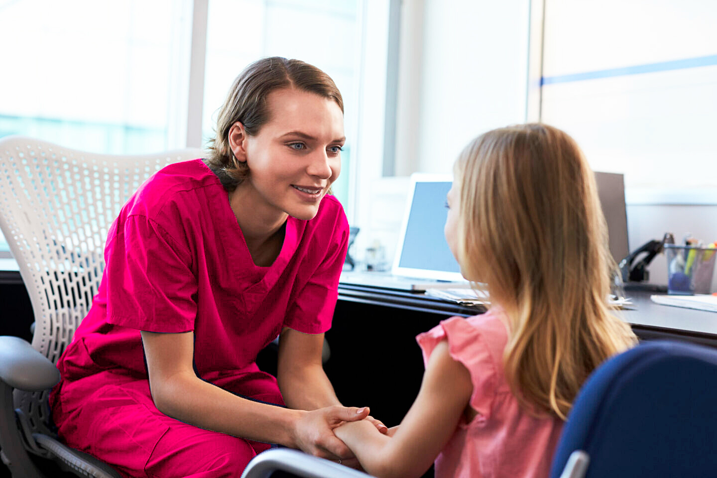
[[647, 342], [607, 360], [574, 402], [551, 477], [586, 451], [586, 477], [706, 477], [717, 470], [717, 350]]

